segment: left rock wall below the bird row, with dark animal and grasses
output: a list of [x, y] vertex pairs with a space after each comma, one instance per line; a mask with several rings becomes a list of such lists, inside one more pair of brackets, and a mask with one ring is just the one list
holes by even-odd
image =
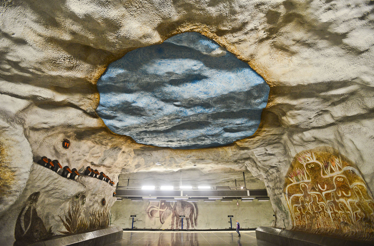
[[97, 178], [71, 180], [33, 163], [25, 189], [1, 214], [0, 242], [28, 245], [54, 235], [101, 227], [109, 223], [108, 212], [116, 201], [114, 190]]

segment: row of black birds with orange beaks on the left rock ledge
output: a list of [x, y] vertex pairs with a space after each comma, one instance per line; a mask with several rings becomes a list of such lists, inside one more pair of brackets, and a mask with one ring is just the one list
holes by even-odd
[[79, 175], [87, 175], [93, 178], [98, 178], [99, 180], [103, 180], [109, 183], [111, 186], [114, 186], [114, 182], [110, 180], [110, 178], [104, 174], [104, 172], [99, 172], [97, 169], [93, 170], [91, 167], [82, 166], [79, 171], [76, 168], [70, 169], [69, 166], [62, 167], [58, 160], [51, 160], [46, 156], [42, 156], [38, 161], [38, 164], [45, 166], [46, 168], [51, 169], [52, 171], [56, 172], [57, 174], [61, 175], [64, 178], [70, 178], [71, 180], [76, 180]]

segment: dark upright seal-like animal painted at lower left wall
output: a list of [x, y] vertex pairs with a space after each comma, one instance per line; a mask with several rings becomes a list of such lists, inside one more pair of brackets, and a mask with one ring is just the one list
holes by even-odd
[[24, 246], [52, 236], [52, 227], [46, 229], [36, 212], [40, 192], [31, 194], [21, 209], [16, 221], [14, 246]]

